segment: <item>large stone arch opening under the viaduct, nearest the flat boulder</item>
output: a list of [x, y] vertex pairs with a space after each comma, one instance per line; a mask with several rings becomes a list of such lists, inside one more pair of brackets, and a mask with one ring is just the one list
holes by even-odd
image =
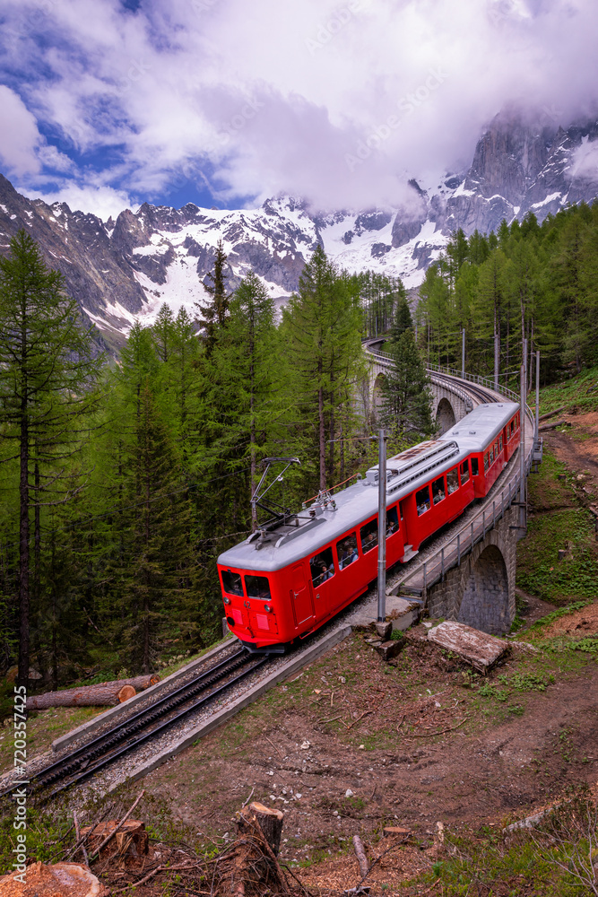
[[507, 565], [496, 545], [489, 545], [472, 562], [457, 620], [492, 635], [509, 628]]

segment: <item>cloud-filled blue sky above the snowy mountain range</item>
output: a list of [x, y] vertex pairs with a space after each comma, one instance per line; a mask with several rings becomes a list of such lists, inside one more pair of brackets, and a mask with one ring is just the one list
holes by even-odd
[[594, 0], [2, 0], [0, 170], [104, 218], [401, 205], [505, 106], [595, 112], [597, 26]]

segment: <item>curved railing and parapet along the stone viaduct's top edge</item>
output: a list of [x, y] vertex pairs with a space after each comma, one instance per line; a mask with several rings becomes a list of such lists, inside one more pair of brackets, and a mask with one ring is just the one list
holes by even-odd
[[[392, 361], [392, 356], [388, 355], [388, 353], [374, 350], [367, 344], [364, 348], [374, 356], [381, 356], [385, 361]], [[494, 389], [493, 381], [488, 377], [482, 377], [480, 374], [465, 373], [465, 376], [462, 377], [462, 371], [439, 364], [429, 364], [427, 370], [441, 379], [450, 378], [451, 388], [455, 389], [457, 395], [464, 392], [464, 390], [453, 382], [454, 379], [460, 380], [461, 383], [476, 384], [482, 390], [488, 390], [491, 395], [486, 397], [492, 402], [497, 401], [497, 395], [505, 396], [517, 403], [520, 402], [520, 396], [517, 396], [512, 389], [502, 387], [498, 392]], [[467, 395], [467, 397], [471, 400], [471, 396]], [[525, 403], [524, 421], [525, 418], [527, 418], [531, 430], [529, 434], [525, 434], [527, 438], [524, 439], [524, 476], [527, 477], [535, 459], [534, 451], [536, 448], [532, 435], [534, 431], [534, 414], [527, 403]], [[520, 464], [516, 463], [519, 459], [520, 451], [521, 443], [516, 454], [509, 462], [510, 476], [500, 492], [490, 492], [490, 497], [484, 502], [481, 509], [476, 510], [473, 514], [470, 510], [467, 523], [457, 531], [455, 536], [451, 536], [447, 541], [443, 541], [438, 550], [426, 561], [416, 562], [414, 569], [409, 570], [407, 575], [400, 580], [400, 592], [408, 595], [420, 595], [425, 598], [428, 588], [438, 581], [444, 580], [448, 570], [459, 566], [463, 557], [472, 551], [474, 545], [486, 538], [489, 530], [496, 526], [498, 520], [504, 518], [507, 510], [514, 503], [517, 506], [520, 505], [517, 496], [521, 495], [521, 467]]]

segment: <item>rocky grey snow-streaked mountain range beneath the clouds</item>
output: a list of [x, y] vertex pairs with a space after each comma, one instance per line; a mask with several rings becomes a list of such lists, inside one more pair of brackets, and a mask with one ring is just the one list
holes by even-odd
[[250, 211], [144, 203], [102, 222], [65, 204], [26, 199], [0, 175], [0, 252], [19, 228], [30, 231], [109, 344], [122, 342], [134, 318], [150, 323], [164, 301], [195, 315], [219, 239], [230, 287], [253, 269], [279, 304], [297, 289], [318, 243], [342, 268], [400, 276], [414, 287], [456, 228], [485, 233], [528, 211], [542, 221], [598, 196], [598, 122], [565, 130], [544, 119], [497, 116], [468, 170], [410, 180], [412, 202], [398, 209], [314, 213], [287, 196]]

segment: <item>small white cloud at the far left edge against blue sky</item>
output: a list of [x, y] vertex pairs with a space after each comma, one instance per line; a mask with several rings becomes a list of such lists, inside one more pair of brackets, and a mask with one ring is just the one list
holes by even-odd
[[0, 85], [0, 159], [6, 169], [16, 175], [39, 171], [39, 140], [36, 120], [21, 97]]

